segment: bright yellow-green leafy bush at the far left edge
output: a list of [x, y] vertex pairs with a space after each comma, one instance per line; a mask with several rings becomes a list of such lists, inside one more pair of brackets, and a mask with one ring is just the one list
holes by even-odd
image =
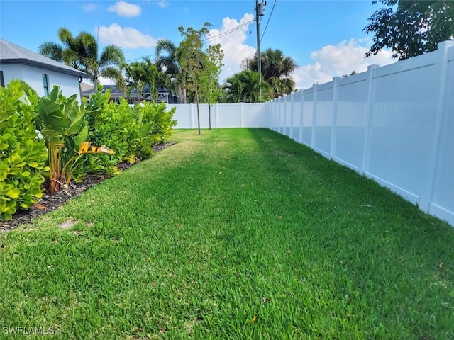
[[[0, 87], [0, 220], [11, 220], [43, 196], [41, 184], [49, 170], [44, 140], [36, 132], [37, 110], [21, 101], [21, 81]], [[29, 94], [32, 96], [33, 94]]]

